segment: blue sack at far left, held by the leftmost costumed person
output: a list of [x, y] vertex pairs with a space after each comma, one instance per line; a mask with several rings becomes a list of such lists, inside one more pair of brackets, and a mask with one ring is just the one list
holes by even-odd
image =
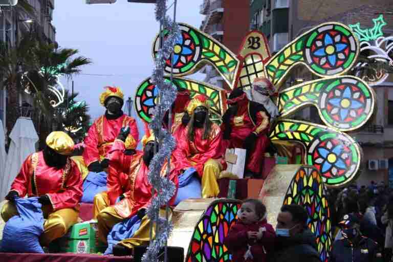
[[7, 221], [3, 230], [2, 252], [44, 253], [39, 245], [43, 232], [43, 214], [38, 198], [16, 198], [19, 215]]

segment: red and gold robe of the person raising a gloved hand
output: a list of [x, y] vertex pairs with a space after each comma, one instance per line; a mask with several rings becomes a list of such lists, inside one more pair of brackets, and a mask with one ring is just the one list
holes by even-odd
[[[151, 185], [147, 179], [149, 170], [143, 162], [143, 153], [137, 151], [137, 154], [127, 156], [123, 154], [124, 150], [124, 142], [115, 140], [108, 155], [111, 164], [107, 180], [107, 193], [116, 212], [123, 218], [128, 218], [135, 215], [139, 209], [147, 208], [152, 195]], [[162, 167], [162, 176], [166, 175], [166, 166], [167, 163]], [[179, 185], [178, 176], [181, 169], [186, 167], [182, 167], [175, 162], [171, 162], [170, 166], [169, 180], [176, 185], [177, 190]], [[114, 204], [120, 194], [124, 194], [125, 198]], [[173, 205], [176, 194], [177, 191], [169, 201], [169, 205]]]

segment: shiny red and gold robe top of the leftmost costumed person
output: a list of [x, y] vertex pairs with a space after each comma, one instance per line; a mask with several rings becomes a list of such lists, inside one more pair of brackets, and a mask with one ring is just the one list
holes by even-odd
[[82, 178], [77, 164], [70, 158], [64, 168], [50, 167], [43, 159], [43, 152], [30, 155], [22, 167], [11, 190], [23, 198], [47, 194], [53, 211], [75, 207], [82, 197]]

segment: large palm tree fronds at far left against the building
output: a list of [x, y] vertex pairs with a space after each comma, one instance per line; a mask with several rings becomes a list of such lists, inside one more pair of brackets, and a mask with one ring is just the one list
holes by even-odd
[[[6, 42], [0, 43], [2, 83], [10, 100], [14, 101], [8, 106], [15, 106], [19, 93], [29, 93], [33, 97], [37, 119], [42, 119], [48, 126], [58, 126], [61, 122], [56, 117], [56, 108], [50, 103], [58, 99], [50, 88], [57, 85], [58, 75], [71, 77], [81, 72], [82, 65], [91, 63], [89, 58], [77, 54], [75, 49], [57, 49], [54, 44], [38, 39], [33, 32], [23, 35], [12, 47]], [[7, 114], [12, 112], [16, 111], [8, 110]], [[13, 123], [10, 124], [12, 127]]]

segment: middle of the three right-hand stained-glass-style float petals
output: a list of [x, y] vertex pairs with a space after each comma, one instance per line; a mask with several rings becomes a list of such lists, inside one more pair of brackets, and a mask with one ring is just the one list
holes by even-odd
[[375, 93], [354, 76], [323, 78], [304, 82], [279, 93], [281, 117], [314, 105], [321, 120], [341, 131], [360, 128], [374, 113]]

